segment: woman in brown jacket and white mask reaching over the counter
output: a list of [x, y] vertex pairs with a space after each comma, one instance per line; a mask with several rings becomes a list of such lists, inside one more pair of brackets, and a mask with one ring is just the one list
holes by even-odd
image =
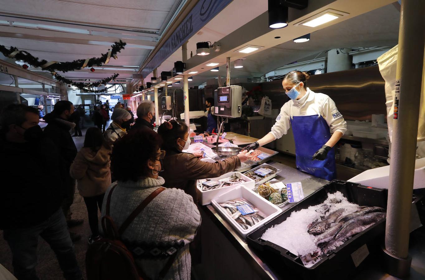
[[187, 194], [196, 199], [196, 180], [215, 178], [224, 173], [234, 171], [247, 161], [251, 156], [246, 152], [237, 156], [226, 158], [214, 163], [201, 161], [191, 153], [184, 153], [190, 145], [187, 125], [184, 122], [171, 120], [164, 122], [158, 128], [158, 134], [163, 139], [162, 150], [166, 151], [161, 176], [165, 179], [164, 187], [183, 189]]

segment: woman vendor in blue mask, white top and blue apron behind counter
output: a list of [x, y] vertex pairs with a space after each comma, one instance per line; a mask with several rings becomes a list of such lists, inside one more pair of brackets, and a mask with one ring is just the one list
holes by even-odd
[[346, 132], [347, 123], [329, 96], [306, 87], [308, 79], [306, 72], [286, 74], [282, 86], [291, 100], [280, 109], [272, 131], [245, 149], [255, 150], [279, 139], [292, 126], [297, 169], [330, 181], [335, 178], [335, 152], [332, 147]]

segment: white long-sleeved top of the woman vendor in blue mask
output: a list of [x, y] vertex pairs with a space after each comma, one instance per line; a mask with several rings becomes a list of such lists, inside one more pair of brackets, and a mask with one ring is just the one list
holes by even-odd
[[338, 111], [335, 102], [326, 94], [315, 93], [307, 88], [307, 93], [300, 100], [289, 100], [283, 104], [276, 123], [271, 133], [275, 139], [286, 134], [291, 127], [291, 116], [318, 115], [325, 119], [332, 132], [339, 131], [344, 134], [347, 131], [347, 122]]

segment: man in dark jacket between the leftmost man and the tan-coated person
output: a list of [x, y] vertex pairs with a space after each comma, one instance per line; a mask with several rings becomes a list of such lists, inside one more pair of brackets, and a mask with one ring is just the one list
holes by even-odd
[[[83, 220], [71, 219], [72, 213], [70, 210], [74, 201], [75, 180], [69, 175], [69, 169], [77, 155], [77, 147], [75, 147], [74, 140], [69, 133], [69, 130], [75, 127], [75, 123], [69, 121], [73, 112], [74, 105], [71, 102], [66, 100], [58, 101], [54, 105], [53, 112], [44, 116], [48, 124], [43, 132], [45, 137], [51, 139], [56, 144], [65, 167], [65, 173], [63, 174], [65, 199], [62, 209], [69, 227], [77, 226], [83, 222]], [[70, 233], [73, 241], [81, 239], [80, 235], [73, 232]]]

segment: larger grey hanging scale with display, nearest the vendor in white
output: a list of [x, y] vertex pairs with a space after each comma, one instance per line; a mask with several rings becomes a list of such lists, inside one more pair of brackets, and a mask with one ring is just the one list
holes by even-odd
[[230, 85], [214, 91], [214, 115], [238, 118], [242, 113], [242, 87]]

